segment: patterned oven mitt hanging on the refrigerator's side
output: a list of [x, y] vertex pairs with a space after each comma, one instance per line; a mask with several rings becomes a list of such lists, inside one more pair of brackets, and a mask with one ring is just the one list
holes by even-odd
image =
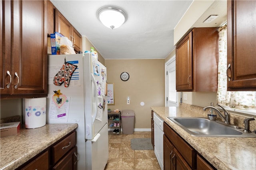
[[70, 78], [76, 68], [77, 66], [65, 62], [60, 71], [54, 76], [53, 84], [60, 86], [62, 83], [64, 83], [64, 87], [68, 87]]

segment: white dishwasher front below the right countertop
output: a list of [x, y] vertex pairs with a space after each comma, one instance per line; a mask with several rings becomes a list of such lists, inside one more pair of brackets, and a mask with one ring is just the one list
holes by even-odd
[[156, 154], [157, 161], [160, 165], [161, 170], [164, 169], [164, 121], [156, 115], [153, 114], [154, 120], [154, 152]]

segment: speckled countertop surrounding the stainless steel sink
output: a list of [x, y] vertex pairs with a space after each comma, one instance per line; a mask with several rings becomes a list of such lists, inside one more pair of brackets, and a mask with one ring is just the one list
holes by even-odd
[[256, 138], [194, 137], [168, 117], [206, 117], [206, 113], [180, 107], [151, 109], [218, 170], [256, 170]]

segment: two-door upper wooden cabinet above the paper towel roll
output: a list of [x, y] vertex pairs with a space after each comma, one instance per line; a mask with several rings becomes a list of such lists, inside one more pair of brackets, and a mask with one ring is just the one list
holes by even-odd
[[47, 96], [45, 1], [1, 1], [1, 99]]

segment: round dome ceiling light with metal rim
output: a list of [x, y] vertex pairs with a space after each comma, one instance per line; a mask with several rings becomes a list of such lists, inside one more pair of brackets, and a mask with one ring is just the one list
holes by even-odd
[[98, 18], [103, 25], [114, 29], [120, 27], [126, 21], [126, 14], [119, 8], [107, 6], [98, 11]]

